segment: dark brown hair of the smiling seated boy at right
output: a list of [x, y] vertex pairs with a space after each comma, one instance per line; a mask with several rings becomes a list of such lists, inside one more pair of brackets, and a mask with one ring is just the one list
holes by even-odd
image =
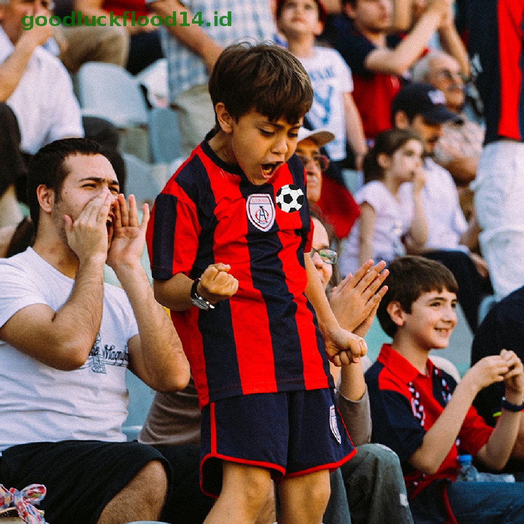
[[390, 337], [395, 336], [398, 328], [387, 312], [391, 302], [399, 302], [406, 313], [411, 313], [411, 304], [422, 293], [447, 290], [456, 294], [459, 291], [453, 273], [436, 260], [416, 256], [402, 257], [393, 260], [388, 270], [389, 275], [384, 281], [388, 290], [378, 305], [377, 317], [381, 328]]

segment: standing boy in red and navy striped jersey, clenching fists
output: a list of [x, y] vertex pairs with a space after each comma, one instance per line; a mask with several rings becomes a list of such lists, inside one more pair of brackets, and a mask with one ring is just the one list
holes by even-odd
[[313, 90], [291, 53], [245, 43], [222, 52], [209, 91], [213, 133], [158, 196], [147, 234], [202, 408], [202, 489], [220, 494], [205, 522], [254, 522], [274, 477], [282, 521], [318, 524], [329, 470], [355, 453], [326, 353], [340, 365], [366, 348], [304, 257], [312, 228], [293, 153]]

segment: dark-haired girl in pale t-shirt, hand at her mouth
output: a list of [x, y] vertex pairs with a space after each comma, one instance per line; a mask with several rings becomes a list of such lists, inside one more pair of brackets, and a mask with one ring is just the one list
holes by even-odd
[[[341, 270], [354, 273], [369, 258], [393, 260], [406, 254], [402, 237], [423, 246], [428, 238], [420, 192], [424, 186], [422, 152], [417, 133], [389, 129], [377, 135], [374, 147], [364, 160], [364, 185], [355, 200], [360, 218], [344, 243]], [[410, 205], [400, 205], [398, 190], [413, 182]]]

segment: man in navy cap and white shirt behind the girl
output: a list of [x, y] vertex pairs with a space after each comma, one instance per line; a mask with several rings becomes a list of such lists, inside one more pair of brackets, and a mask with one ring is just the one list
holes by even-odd
[[[416, 252], [407, 238], [408, 248], [412, 254], [441, 261], [453, 272], [459, 283], [457, 298], [467, 323], [475, 332], [478, 307], [484, 294], [489, 293], [488, 270], [482, 257], [470, 251], [477, 241], [476, 224], [468, 226], [450, 172], [432, 158], [443, 124], [456, 118], [446, 107], [444, 93], [430, 84], [407, 85], [391, 104], [392, 124], [417, 132], [424, 140], [426, 155], [426, 181], [421, 194], [428, 223], [428, 241], [423, 252]], [[410, 205], [411, 191], [411, 182], [401, 185], [399, 199], [403, 205]]]

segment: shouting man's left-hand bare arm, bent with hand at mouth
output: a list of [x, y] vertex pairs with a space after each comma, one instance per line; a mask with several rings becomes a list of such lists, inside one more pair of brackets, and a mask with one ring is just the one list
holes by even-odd
[[70, 297], [58, 310], [29, 305], [0, 328], [0, 339], [39, 362], [72, 370], [87, 360], [102, 321], [107, 216], [112, 203], [106, 190], [91, 200], [73, 223], [64, 216], [68, 244], [79, 258]]

